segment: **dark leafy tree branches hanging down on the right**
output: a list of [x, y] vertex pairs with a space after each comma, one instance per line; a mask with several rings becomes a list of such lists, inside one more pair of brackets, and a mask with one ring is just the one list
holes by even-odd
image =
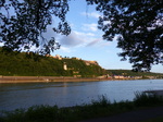
[[150, 71], [163, 64], [162, 0], [87, 0], [97, 4], [99, 28], [106, 40], [117, 40], [122, 60], [129, 59], [135, 71]]

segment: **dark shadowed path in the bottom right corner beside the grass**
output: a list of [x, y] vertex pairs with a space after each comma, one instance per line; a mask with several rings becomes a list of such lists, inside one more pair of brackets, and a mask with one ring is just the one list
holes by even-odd
[[136, 110], [116, 114], [113, 117], [91, 119], [80, 122], [140, 122], [143, 120], [163, 117], [163, 107], [154, 107], [145, 110]]

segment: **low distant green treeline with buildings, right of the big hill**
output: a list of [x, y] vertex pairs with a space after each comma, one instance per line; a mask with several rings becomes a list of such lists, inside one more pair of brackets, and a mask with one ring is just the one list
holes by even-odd
[[124, 76], [163, 76], [162, 73], [152, 72], [133, 72], [131, 70], [106, 70], [110, 75], [124, 75]]

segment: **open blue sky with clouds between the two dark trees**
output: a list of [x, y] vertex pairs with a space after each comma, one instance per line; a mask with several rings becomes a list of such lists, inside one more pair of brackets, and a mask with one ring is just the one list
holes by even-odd
[[[131, 70], [131, 64], [128, 61], [121, 61], [121, 57], [117, 56], [121, 49], [116, 48], [116, 40], [102, 39], [103, 33], [97, 28], [99, 15], [95, 7], [87, 5], [85, 0], [72, 0], [66, 15], [72, 33], [68, 36], [55, 35], [61, 48], [51, 54], [96, 60], [104, 69]], [[54, 34], [49, 30], [47, 35], [51, 37]], [[151, 72], [163, 73], [163, 66], [153, 65]]]

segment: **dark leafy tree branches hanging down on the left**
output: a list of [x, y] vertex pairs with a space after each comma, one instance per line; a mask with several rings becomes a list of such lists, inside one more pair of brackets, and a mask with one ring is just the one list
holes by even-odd
[[60, 48], [54, 37], [43, 37], [47, 26], [55, 16], [55, 33], [68, 35], [71, 28], [65, 20], [67, 0], [0, 0], [0, 42], [4, 49], [27, 50], [36, 47], [47, 54]]

